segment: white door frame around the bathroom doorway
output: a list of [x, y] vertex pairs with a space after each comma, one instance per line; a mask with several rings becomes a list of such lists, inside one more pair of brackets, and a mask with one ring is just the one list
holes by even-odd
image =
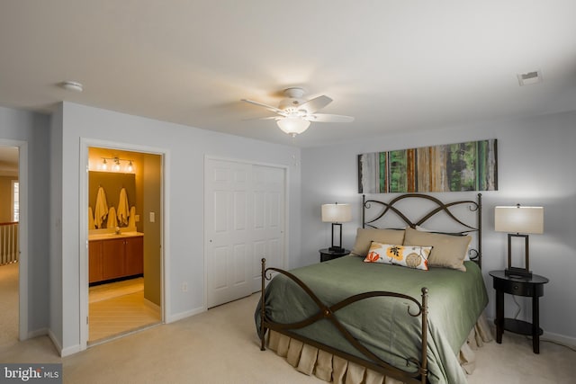
[[80, 350], [84, 351], [88, 347], [88, 148], [89, 147], [103, 147], [110, 149], [125, 150], [131, 152], [139, 152], [150, 155], [161, 156], [160, 160], [160, 206], [162, 207], [161, 212], [161, 223], [160, 223], [160, 314], [161, 322], [164, 324], [166, 322], [166, 314], [170, 313], [169, 303], [170, 303], [170, 291], [169, 285], [166, 281], [169, 281], [169, 201], [166, 196], [169, 196], [169, 158], [170, 154], [166, 148], [159, 147], [147, 147], [139, 146], [136, 144], [126, 144], [118, 143], [116, 141], [107, 141], [95, 138], [80, 138], [80, 174], [79, 180], [79, 250], [78, 254], [80, 256], [79, 261], [79, 287], [80, 287], [80, 316], [78, 320], [80, 322]]

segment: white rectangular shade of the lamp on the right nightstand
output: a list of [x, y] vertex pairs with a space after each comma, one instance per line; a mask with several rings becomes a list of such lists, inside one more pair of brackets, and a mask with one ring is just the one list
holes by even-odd
[[541, 234], [544, 233], [543, 207], [496, 207], [494, 229], [498, 232]]

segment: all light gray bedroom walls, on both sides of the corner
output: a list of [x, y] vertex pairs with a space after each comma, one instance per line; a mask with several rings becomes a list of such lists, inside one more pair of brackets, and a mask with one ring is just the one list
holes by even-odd
[[[493, 317], [494, 312], [487, 273], [503, 268], [506, 254], [506, 235], [493, 232], [493, 207], [517, 202], [543, 205], [545, 234], [530, 237], [532, 269], [551, 280], [541, 299], [542, 326], [548, 335], [575, 342], [572, 325], [576, 323], [576, 308], [571, 293], [576, 290], [572, 279], [576, 269], [576, 173], [572, 169], [576, 164], [572, 148], [576, 143], [575, 126], [576, 112], [491, 121], [307, 148], [302, 150], [301, 159], [295, 147], [73, 103], [60, 104], [51, 122], [45, 115], [0, 107], [0, 138], [23, 140], [29, 145], [30, 333], [37, 335], [48, 327], [58, 347], [74, 349], [79, 343], [79, 138], [166, 148], [171, 180], [166, 196], [171, 262], [167, 284], [173, 292], [169, 298], [170, 317], [185, 315], [203, 305], [203, 217], [199, 212], [203, 210], [204, 155], [289, 167], [289, 266], [296, 267], [318, 263], [318, 249], [329, 245], [329, 225], [320, 221], [322, 203], [356, 204], [354, 222], [344, 225], [344, 244], [353, 245], [360, 224], [357, 154], [498, 138], [500, 191], [483, 193], [483, 271], [491, 297], [487, 314]], [[455, 193], [455, 198], [458, 195]], [[189, 283], [186, 293], [179, 290], [182, 281]], [[526, 299], [519, 301], [525, 308], [520, 317], [529, 317], [529, 303]], [[508, 302], [507, 311], [514, 309]]]

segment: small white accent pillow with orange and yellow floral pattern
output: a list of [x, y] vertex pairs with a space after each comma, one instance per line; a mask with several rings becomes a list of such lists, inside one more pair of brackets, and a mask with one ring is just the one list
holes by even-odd
[[428, 271], [431, 246], [393, 246], [372, 242], [365, 263], [386, 263]]

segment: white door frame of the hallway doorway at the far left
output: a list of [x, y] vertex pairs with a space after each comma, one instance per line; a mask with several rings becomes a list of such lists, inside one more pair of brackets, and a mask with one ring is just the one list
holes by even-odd
[[28, 142], [0, 138], [2, 147], [18, 147], [20, 219], [18, 220], [18, 339], [31, 337], [28, 331]]

